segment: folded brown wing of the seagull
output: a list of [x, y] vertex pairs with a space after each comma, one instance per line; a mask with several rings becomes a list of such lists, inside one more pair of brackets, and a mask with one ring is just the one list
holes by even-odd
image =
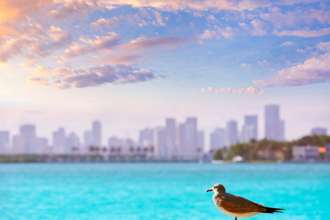
[[251, 204], [240, 204], [240, 203], [231, 203], [226, 199], [220, 199], [219, 204], [226, 210], [232, 213], [249, 213], [249, 212], [258, 212], [265, 211], [266, 209], [262, 205], [253, 203]]

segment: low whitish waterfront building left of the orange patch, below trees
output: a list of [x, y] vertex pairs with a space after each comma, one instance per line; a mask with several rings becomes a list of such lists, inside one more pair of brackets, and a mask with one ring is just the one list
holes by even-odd
[[317, 161], [320, 159], [319, 146], [294, 146], [292, 147], [292, 160], [295, 162]]

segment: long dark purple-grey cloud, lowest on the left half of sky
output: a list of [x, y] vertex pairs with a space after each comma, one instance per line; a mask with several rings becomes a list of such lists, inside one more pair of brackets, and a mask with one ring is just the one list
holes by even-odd
[[56, 89], [70, 88], [73, 84], [75, 88], [84, 88], [90, 86], [100, 86], [108, 83], [111, 86], [118, 84], [133, 84], [138, 82], [147, 82], [157, 77], [154, 73], [145, 69], [133, 68], [130, 65], [117, 64], [90, 66], [88, 70], [68, 70], [66, 68], [57, 68], [53, 75], [59, 79], [55, 83]]

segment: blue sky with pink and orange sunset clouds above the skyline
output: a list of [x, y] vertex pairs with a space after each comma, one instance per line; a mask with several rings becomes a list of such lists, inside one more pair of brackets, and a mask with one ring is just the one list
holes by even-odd
[[81, 137], [93, 120], [138, 140], [197, 117], [206, 145], [229, 120], [280, 106], [285, 139], [330, 131], [330, 4], [314, 0], [0, 0], [0, 130]]

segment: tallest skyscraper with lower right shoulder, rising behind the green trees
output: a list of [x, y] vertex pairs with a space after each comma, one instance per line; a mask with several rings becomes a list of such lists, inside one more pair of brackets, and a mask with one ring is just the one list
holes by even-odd
[[284, 141], [284, 121], [280, 120], [280, 107], [265, 107], [265, 137], [268, 140]]

